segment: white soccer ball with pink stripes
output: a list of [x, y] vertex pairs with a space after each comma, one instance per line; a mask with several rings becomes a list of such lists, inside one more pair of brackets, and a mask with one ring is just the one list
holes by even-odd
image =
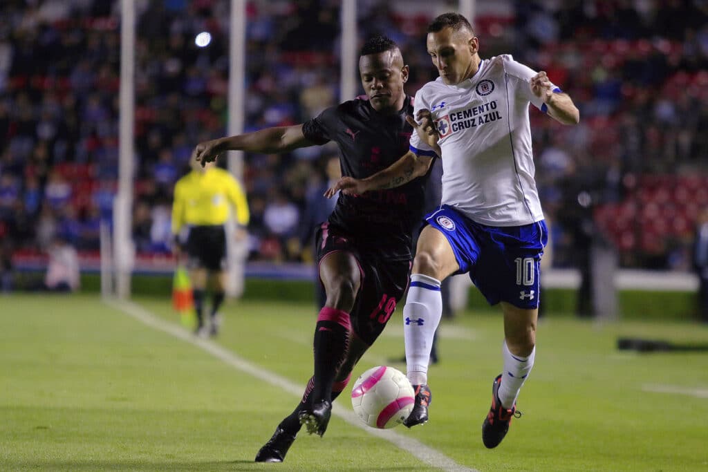
[[411, 414], [414, 402], [411, 382], [393, 367], [372, 367], [361, 374], [352, 388], [354, 413], [370, 427], [400, 425]]

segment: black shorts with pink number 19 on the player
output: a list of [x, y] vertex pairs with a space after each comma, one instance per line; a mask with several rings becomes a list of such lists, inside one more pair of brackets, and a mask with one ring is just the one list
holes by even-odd
[[372, 345], [382, 333], [408, 288], [411, 260], [390, 260], [385, 253], [366, 248], [341, 229], [324, 223], [317, 230], [317, 263], [331, 253], [354, 255], [361, 272], [361, 287], [350, 313], [352, 329]]

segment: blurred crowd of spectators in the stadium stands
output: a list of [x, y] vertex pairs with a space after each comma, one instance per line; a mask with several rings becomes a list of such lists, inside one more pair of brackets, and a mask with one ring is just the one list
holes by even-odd
[[[554, 265], [572, 267], [597, 232], [625, 267], [687, 270], [708, 207], [708, 2], [476, 3], [484, 55], [513, 51], [581, 109], [568, 128], [532, 110]], [[411, 94], [434, 79], [426, 25], [455, 6], [429, 4], [358, 2], [360, 40], [399, 42]], [[137, 5], [133, 235], [137, 251], [166, 253], [173, 185], [193, 145], [225, 133], [229, 1]], [[338, 101], [338, 1], [254, 0], [247, 15], [246, 131]], [[0, 16], [0, 268], [57, 235], [97, 251], [118, 178], [120, 2], [5, 0]], [[207, 47], [195, 45], [202, 31]], [[311, 260], [300, 221], [320, 205], [333, 154], [245, 156], [251, 260]]]

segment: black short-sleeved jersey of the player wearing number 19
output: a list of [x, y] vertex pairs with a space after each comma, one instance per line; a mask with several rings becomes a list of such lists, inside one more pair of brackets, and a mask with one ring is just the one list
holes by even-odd
[[[316, 144], [336, 142], [342, 175], [366, 178], [398, 161], [409, 150], [413, 129], [406, 114], [413, 100], [395, 115], [381, 115], [369, 100], [356, 98], [324, 110], [304, 123], [304, 137]], [[429, 173], [428, 173], [429, 174]], [[387, 258], [411, 257], [412, 233], [423, 217], [423, 188], [428, 174], [406, 185], [364, 195], [340, 192], [329, 223], [346, 231], [360, 246]]]

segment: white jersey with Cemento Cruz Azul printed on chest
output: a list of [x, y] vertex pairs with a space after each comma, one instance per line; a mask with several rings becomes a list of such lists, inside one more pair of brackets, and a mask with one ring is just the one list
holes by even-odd
[[[529, 103], [536, 72], [510, 55], [484, 59], [470, 79], [438, 78], [416, 93], [415, 110], [430, 110], [442, 149], [442, 203], [489, 226], [521, 226], [543, 219], [534, 180]], [[554, 91], [559, 91], [553, 86]], [[411, 151], [434, 155], [416, 132]]]

